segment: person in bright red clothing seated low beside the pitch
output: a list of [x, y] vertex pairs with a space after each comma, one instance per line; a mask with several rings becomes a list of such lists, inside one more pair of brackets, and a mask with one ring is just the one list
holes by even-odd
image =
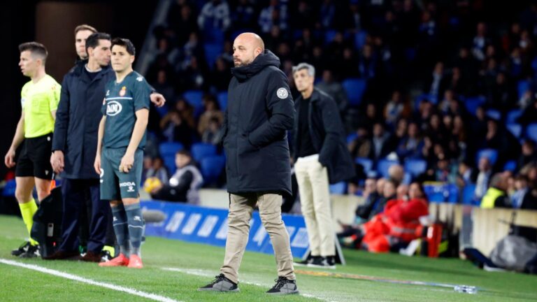
[[397, 243], [409, 243], [420, 237], [419, 218], [428, 214], [423, 187], [413, 182], [408, 189], [408, 199], [388, 201], [383, 213], [364, 224], [362, 247], [370, 252], [389, 252]]

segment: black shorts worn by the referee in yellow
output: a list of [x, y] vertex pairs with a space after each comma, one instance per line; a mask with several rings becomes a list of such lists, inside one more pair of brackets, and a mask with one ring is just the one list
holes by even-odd
[[15, 176], [52, 179], [51, 152], [52, 133], [36, 138], [24, 138], [17, 166], [15, 166]]

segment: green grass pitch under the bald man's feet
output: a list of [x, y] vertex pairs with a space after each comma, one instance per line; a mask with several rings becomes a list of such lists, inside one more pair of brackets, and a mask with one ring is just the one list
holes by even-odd
[[[537, 301], [537, 276], [489, 273], [459, 259], [345, 250], [347, 266], [336, 270], [296, 268], [301, 295], [268, 296], [277, 278], [273, 256], [246, 252], [239, 293], [198, 292], [213, 280], [224, 249], [178, 240], [148, 238], [142, 246], [145, 268], [99, 268], [79, 261], [17, 259], [10, 250], [22, 243], [22, 220], [0, 215], [0, 259], [34, 264], [81, 278], [164, 296], [175, 301]], [[298, 260], [298, 259], [297, 259]], [[328, 273], [328, 274], [327, 274]], [[478, 294], [452, 288], [380, 280], [473, 285]], [[68, 280], [0, 263], [0, 301], [152, 301], [114, 289]]]

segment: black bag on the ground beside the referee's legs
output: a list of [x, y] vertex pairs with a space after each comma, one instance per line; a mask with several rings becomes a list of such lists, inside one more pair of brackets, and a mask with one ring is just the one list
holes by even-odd
[[34, 215], [31, 238], [39, 243], [41, 257], [53, 254], [62, 240], [62, 189], [55, 187], [46, 196]]

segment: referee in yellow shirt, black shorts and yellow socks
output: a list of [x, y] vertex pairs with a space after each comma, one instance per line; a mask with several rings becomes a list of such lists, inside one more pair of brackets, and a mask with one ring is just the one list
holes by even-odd
[[[43, 44], [22, 43], [19, 45], [19, 51], [20, 70], [31, 80], [22, 87], [22, 113], [4, 161], [8, 168], [15, 166], [15, 150], [22, 144], [15, 168], [15, 198], [20, 206], [22, 220], [30, 233], [37, 210], [36, 201], [31, 196], [34, 185], [39, 200], [50, 194], [52, 166], [49, 159], [61, 86], [45, 73], [48, 52]], [[36, 257], [37, 245], [38, 243], [30, 238], [11, 254], [23, 258]]]

